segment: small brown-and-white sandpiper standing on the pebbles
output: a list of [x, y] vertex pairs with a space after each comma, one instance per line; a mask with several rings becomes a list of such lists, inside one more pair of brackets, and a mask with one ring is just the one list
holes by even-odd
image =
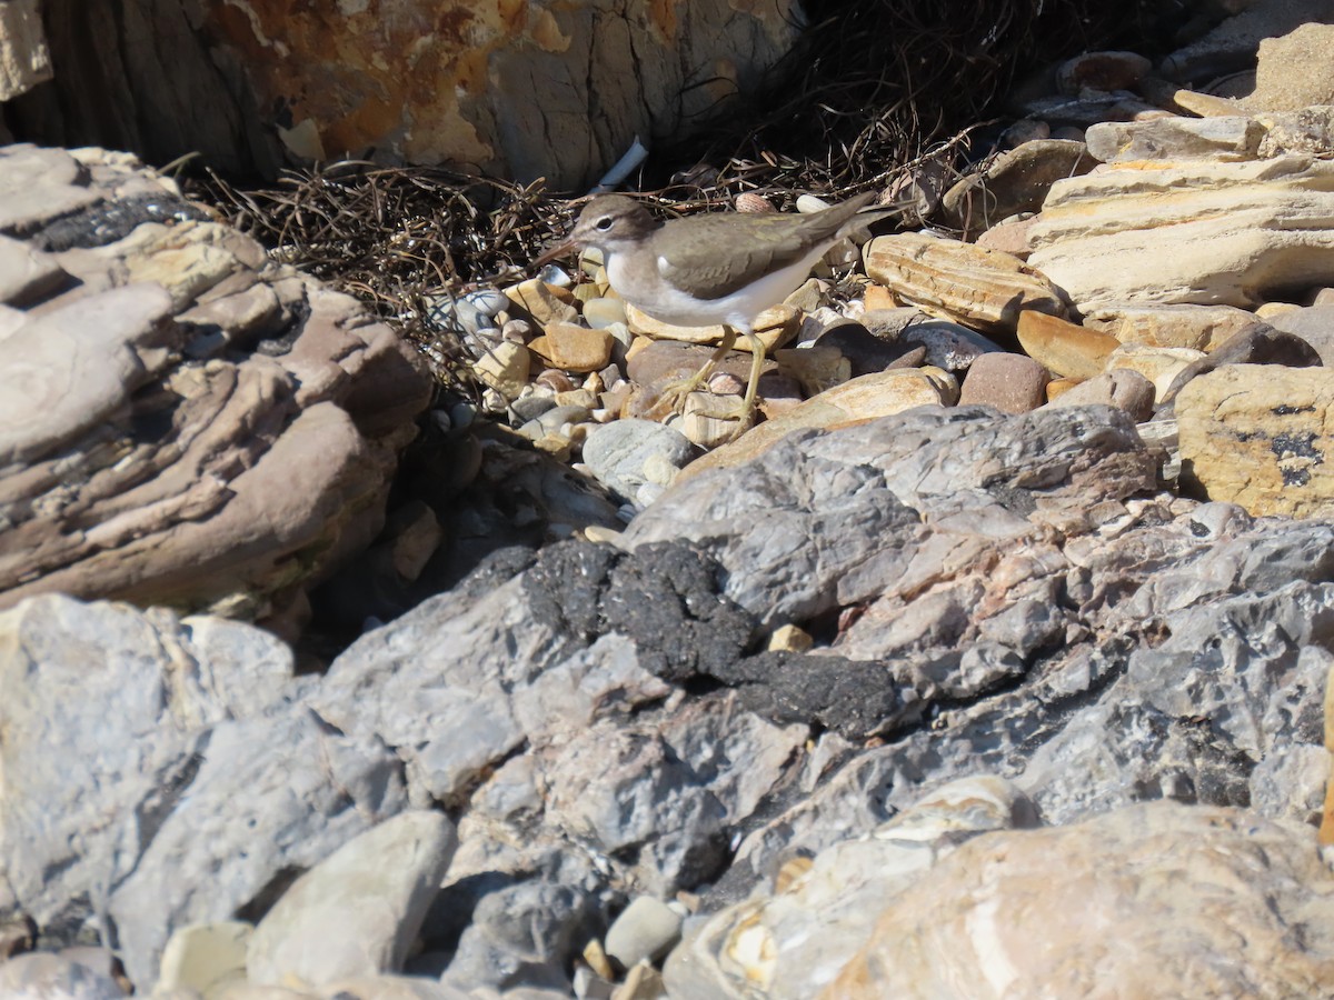
[[856, 227], [854, 216], [874, 197], [867, 192], [810, 215], [727, 213], [662, 223], [634, 199], [599, 195], [584, 205], [570, 239], [542, 260], [594, 247], [602, 251], [611, 287], [642, 312], [678, 327], [723, 325], [723, 340], [708, 361], [670, 387], [659, 407], [679, 405], [698, 389], [731, 351], [736, 333], [744, 333], [751, 344], [739, 423], [744, 429], [764, 365], [764, 344], [751, 324], [806, 280], [815, 261]]

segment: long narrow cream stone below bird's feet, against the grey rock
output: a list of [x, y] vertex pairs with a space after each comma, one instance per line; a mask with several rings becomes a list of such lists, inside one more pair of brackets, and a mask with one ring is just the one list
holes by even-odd
[[895, 368], [863, 375], [806, 400], [782, 416], [766, 420], [736, 441], [696, 459], [682, 469], [678, 481], [706, 469], [748, 461], [792, 431], [832, 431], [902, 413], [914, 407], [952, 405], [958, 397], [958, 384], [938, 368]]

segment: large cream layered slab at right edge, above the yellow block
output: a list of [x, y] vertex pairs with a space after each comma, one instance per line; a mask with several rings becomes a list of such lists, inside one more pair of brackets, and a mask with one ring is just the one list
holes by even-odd
[[1334, 161], [1101, 167], [1053, 185], [1029, 263], [1081, 312], [1250, 305], [1334, 281]]

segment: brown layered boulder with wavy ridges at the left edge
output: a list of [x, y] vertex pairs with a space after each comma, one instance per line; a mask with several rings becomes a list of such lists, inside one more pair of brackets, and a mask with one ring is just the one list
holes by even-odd
[[263, 616], [374, 537], [430, 396], [388, 327], [129, 157], [9, 147], [0, 191], [0, 607]]

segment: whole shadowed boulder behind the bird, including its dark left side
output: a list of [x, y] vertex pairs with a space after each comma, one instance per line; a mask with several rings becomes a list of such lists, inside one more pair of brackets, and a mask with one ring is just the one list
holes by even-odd
[[[47, 0], [47, 92], [24, 135], [187, 153], [224, 173], [376, 155], [587, 187], [636, 135], [678, 135], [796, 40], [796, 4], [283, 5]], [[87, 95], [97, 95], [93, 103]], [[542, 100], [534, 100], [542, 95]], [[590, 115], [591, 107], [598, 108]]]

